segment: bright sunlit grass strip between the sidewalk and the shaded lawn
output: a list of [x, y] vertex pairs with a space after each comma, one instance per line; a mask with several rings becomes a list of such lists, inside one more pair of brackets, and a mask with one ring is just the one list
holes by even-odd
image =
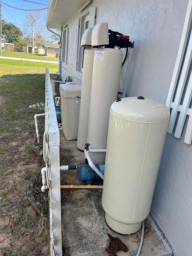
[[9, 74], [45, 74], [45, 68], [49, 68], [50, 73], [56, 73], [59, 67], [58, 63], [0, 59], [0, 77]]

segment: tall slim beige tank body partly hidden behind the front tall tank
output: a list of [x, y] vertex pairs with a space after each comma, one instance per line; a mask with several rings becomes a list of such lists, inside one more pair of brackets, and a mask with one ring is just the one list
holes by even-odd
[[93, 75], [93, 59], [96, 48], [87, 47], [84, 51], [83, 77], [81, 87], [81, 105], [79, 112], [79, 127], [77, 137], [77, 147], [85, 149], [87, 142], [87, 129], [89, 121], [89, 106], [91, 97], [91, 84]]

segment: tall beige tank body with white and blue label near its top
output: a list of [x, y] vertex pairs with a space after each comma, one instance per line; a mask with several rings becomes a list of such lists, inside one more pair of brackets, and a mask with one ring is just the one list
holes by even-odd
[[[94, 54], [87, 143], [90, 149], [106, 149], [109, 112], [117, 99], [123, 53], [97, 48]], [[91, 153], [94, 164], [105, 163], [105, 153]]]

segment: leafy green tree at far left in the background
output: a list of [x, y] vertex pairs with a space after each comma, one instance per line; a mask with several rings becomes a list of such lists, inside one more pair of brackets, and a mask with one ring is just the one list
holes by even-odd
[[19, 41], [22, 39], [22, 31], [12, 23], [8, 23], [2, 20], [2, 37], [7, 43], [19, 45]]

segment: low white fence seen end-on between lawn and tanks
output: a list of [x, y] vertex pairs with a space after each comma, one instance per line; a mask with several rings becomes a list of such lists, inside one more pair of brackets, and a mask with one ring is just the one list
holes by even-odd
[[59, 144], [59, 129], [51, 80], [49, 70], [46, 68], [43, 158], [46, 164], [46, 179], [49, 190], [51, 256], [62, 256]]

